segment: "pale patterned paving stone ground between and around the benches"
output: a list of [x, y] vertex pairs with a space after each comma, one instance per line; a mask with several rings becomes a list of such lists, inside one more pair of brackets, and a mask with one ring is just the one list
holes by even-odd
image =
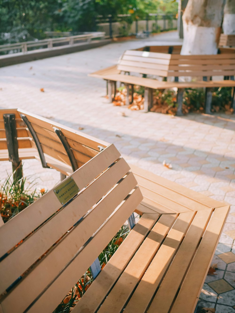
[[[115, 64], [125, 49], [177, 44], [176, 32], [0, 69], [0, 108], [21, 108], [114, 143], [125, 159], [146, 170], [231, 204], [231, 211], [198, 305], [216, 313], [235, 312], [235, 116], [189, 114], [174, 117], [114, 107], [105, 99], [105, 82], [87, 74]], [[40, 92], [44, 88], [45, 92]], [[126, 116], [122, 116], [125, 112]], [[162, 162], [170, 162], [167, 169]], [[11, 172], [0, 163], [1, 178]], [[25, 160], [24, 174], [38, 188], [59, 181], [55, 170]], [[36, 173], [36, 174], [35, 174]]]

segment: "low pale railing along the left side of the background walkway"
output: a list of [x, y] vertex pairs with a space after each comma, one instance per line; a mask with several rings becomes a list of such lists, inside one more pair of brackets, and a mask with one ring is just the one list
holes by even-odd
[[16, 44], [3, 44], [0, 45], [0, 52], [6, 53], [16, 53], [16, 52], [25, 52], [29, 51], [29, 49], [38, 47], [39, 49], [53, 49], [55, 48], [53, 45], [57, 44], [57, 47], [61, 44], [68, 43], [68, 45], [74, 45], [78, 43], [78, 41], [87, 41], [90, 42], [91, 39], [95, 38], [105, 38], [105, 32], [93, 32], [93, 33], [85, 33], [83, 35], [69, 36], [69, 37], [61, 37], [61, 38], [49, 38], [42, 39], [37, 41], [26, 41], [19, 42]]

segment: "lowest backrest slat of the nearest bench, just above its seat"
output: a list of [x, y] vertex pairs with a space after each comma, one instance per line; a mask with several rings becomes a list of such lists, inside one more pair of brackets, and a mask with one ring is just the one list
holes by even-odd
[[[77, 277], [81, 277], [87, 269], [88, 264], [92, 264], [114, 235], [118, 232], [125, 220], [134, 211], [135, 207], [142, 199], [141, 192], [137, 187], [124, 203], [110, 216], [109, 219], [98, 229], [89, 243], [81, 249], [73, 260], [61, 271], [42, 296], [28, 310], [28, 313], [41, 313], [42, 307], [45, 313], [51, 313], [56, 305], [63, 299], [77, 282]], [[76, 275], [74, 275], [76, 271]]]

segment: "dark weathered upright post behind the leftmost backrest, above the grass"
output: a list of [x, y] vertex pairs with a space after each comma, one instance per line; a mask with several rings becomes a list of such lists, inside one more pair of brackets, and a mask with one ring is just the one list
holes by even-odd
[[9, 161], [12, 162], [13, 182], [23, 177], [22, 162], [18, 154], [18, 141], [15, 114], [3, 114], [4, 128], [6, 132]]

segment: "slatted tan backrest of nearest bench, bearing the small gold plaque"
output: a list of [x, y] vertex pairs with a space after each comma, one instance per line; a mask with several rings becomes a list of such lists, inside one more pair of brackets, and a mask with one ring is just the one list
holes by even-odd
[[1, 312], [59, 305], [142, 200], [129, 170], [111, 144], [0, 227]]

